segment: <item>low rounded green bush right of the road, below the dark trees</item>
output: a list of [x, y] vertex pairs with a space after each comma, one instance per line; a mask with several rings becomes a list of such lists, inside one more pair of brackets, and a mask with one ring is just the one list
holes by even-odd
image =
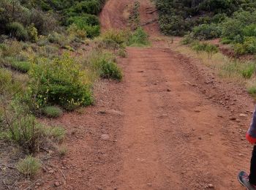
[[217, 24], [202, 24], [192, 29], [195, 39], [214, 39], [220, 37], [222, 34], [221, 29]]

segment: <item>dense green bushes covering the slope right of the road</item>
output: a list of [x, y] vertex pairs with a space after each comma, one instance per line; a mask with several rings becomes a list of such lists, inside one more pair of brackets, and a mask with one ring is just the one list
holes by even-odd
[[157, 1], [162, 32], [187, 42], [221, 38], [237, 55], [256, 53], [256, 2], [252, 0]]

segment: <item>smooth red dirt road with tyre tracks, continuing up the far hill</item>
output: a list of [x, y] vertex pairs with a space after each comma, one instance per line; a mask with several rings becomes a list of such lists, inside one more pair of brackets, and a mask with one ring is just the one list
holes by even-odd
[[[115, 24], [104, 23], [108, 12], [114, 17], [111, 7], [118, 7], [120, 12], [124, 4], [127, 1], [108, 1], [102, 11], [105, 29], [116, 28]], [[140, 4], [141, 22], [153, 20], [156, 15], [146, 13], [153, 7], [150, 2]], [[146, 31], [159, 36], [156, 23], [147, 25]], [[130, 47], [128, 55], [123, 61], [125, 116], [118, 139], [123, 169], [118, 188], [205, 189], [208, 184], [214, 184], [215, 189], [241, 188], [236, 174], [239, 169], [248, 169], [249, 149], [243, 132], [249, 120], [239, 118], [243, 124], [230, 121], [230, 116], [245, 111], [227, 105], [236, 99], [234, 94], [225, 94], [225, 88], [228, 91], [232, 87], [214, 85], [214, 76], [208, 79], [203, 76], [207, 75], [205, 71], [200, 71], [200, 76], [198, 65], [189, 68], [189, 59], [165, 47]], [[233, 90], [236, 88], [233, 86]], [[223, 94], [227, 96], [225, 107], [209, 99], [206, 91], [217, 96], [219, 102]], [[239, 106], [249, 107], [247, 112], [253, 109], [249, 99]]]

